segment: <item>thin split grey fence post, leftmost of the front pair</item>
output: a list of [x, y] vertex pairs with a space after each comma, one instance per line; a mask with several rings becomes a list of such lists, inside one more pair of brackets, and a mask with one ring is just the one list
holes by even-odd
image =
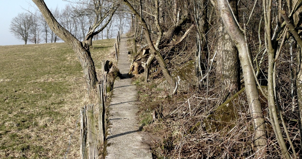
[[80, 110], [81, 114], [81, 130], [80, 130], [80, 154], [81, 159], [88, 159], [87, 149], [86, 149], [86, 140], [87, 140], [87, 129], [86, 129], [86, 114], [85, 114], [85, 108], [82, 108]]

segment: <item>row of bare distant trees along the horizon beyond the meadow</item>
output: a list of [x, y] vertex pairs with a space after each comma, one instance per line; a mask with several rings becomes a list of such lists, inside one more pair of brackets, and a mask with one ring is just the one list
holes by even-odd
[[[89, 29], [94, 25], [95, 14], [87, 14], [87, 5], [65, 5], [64, 8], [50, 9], [53, 16], [58, 22], [72, 33], [78, 40], [85, 40], [86, 34]], [[86, 12], [83, 10], [85, 9]], [[116, 30], [125, 31], [125, 27], [128, 24], [127, 18], [123, 15], [123, 12], [117, 11], [118, 14], [104, 17], [101, 23], [95, 28], [96, 30], [104, 28], [93, 36], [93, 40], [112, 38], [117, 33]], [[110, 20], [109, 20], [110, 18]], [[108, 24], [106, 22], [108, 21]], [[23, 40], [24, 44], [31, 43], [56, 43], [61, 40], [56, 33], [54, 33], [48, 26], [46, 20], [39, 11], [34, 13], [22, 12], [16, 17], [12, 18], [10, 24], [10, 32], [18, 39]], [[100, 35], [99, 35], [100, 34]], [[91, 39], [92, 40], [92, 39]]]

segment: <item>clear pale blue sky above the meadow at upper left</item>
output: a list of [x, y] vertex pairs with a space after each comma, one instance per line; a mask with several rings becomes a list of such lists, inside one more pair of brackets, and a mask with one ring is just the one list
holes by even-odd
[[[63, 8], [68, 2], [63, 0], [44, 0], [48, 8]], [[22, 40], [18, 40], [9, 32], [11, 19], [16, 17], [18, 13], [35, 11], [34, 2], [31, 0], [0, 0], [0, 45], [18, 45], [24, 44]], [[24, 8], [24, 9], [22, 9]]]

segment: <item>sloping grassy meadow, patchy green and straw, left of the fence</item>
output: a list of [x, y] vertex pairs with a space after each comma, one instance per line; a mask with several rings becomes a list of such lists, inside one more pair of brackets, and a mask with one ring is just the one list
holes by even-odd
[[[97, 71], [114, 39], [91, 48]], [[79, 158], [81, 65], [66, 43], [0, 46], [0, 158]], [[75, 130], [75, 131], [74, 131]]]

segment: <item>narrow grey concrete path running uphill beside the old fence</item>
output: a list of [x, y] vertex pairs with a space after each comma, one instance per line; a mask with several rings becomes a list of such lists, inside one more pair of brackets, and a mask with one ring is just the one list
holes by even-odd
[[128, 77], [130, 62], [126, 35], [120, 39], [118, 68], [123, 79], [114, 82], [113, 96], [110, 105], [110, 123], [106, 159], [152, 159], [146, 140], [148, 137], [140, 132], [136, 113], [137, 92]]

